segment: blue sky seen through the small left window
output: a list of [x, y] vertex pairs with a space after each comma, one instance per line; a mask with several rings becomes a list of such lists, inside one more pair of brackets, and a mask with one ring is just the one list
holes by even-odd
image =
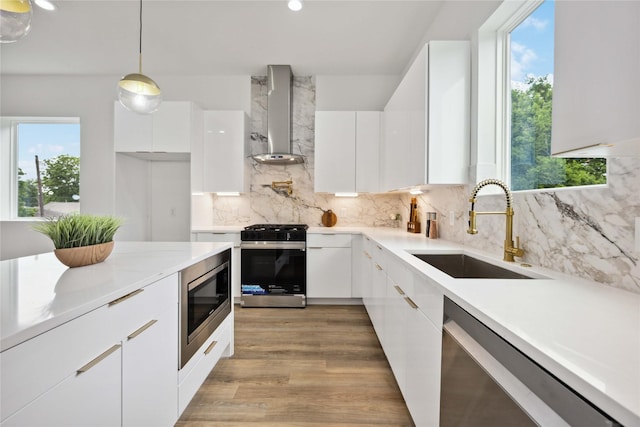
[[36, 180], [36, 155], [42, 164], [60, 154], [80, 157], [79, 123], [18, 124], [18, 167], [25, 173], [22, 180]]

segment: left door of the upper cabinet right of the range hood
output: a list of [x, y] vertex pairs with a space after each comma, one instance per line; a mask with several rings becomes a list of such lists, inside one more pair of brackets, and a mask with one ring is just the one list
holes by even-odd
[[316, 192], [356, 191], [356, 113], [317, 111], [315, 123]]

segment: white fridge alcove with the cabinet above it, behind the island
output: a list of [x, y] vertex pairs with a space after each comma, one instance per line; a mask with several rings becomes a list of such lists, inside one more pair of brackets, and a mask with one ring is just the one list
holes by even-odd
[[151, 115], [115, 102], [115, 213], [125, 220], [119, 240], [190, 240], [190, 153], [201, 145], [202, 127], [192, 102], [163, 102]]

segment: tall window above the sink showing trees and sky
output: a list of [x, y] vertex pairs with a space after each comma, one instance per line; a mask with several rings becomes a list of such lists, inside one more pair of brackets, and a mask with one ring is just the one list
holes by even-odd
[[[529, 2], [525, 18], [504, 31], [510, 143], [505, 159], [512, 190], [606, 184], [605, 159], [551, 157], [554, 2]], [[535, 10], [530, 12], [532, 8]], [[529, 13], [530, 12], [530, 13]], [[505, 58], [506, 59], [506, 58]]]

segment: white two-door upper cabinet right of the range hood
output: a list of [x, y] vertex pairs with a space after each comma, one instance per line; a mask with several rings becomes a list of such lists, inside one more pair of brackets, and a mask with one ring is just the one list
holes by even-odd
[[378, 111], [317, 111], [316, 192], [377, 192]]

